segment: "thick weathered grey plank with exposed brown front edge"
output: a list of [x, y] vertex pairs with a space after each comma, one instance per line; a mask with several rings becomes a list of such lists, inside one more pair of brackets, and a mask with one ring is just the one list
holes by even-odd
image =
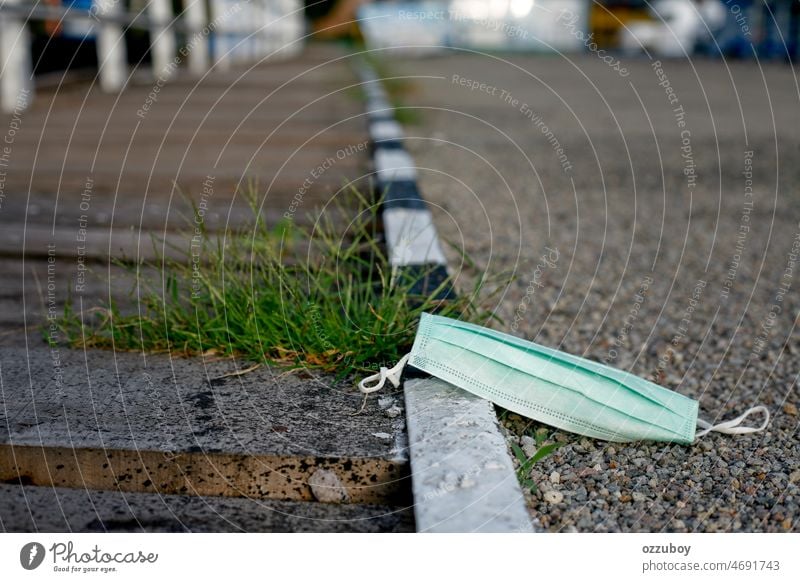
[[[167, 355], [0, 350], [0, 481], [354, 503], [408, 501], [402, 417], [316, 375]], [[314, 490], [320, 470], [330, 476]]]

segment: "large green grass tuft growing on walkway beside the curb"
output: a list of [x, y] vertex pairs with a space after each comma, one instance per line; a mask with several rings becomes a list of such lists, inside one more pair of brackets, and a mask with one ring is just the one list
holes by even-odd
[[193, 252], [161, 258], [161, 275], [123, 265], [135, 276], [132, 308], [79, 313], [68, 302], [57, 321], [68, 344], [237, 356], [341, 379], [402, 357], [424, 311], [478, 323], [491, 317], [480, 306], [481, 277], [455, 298], [437, 299], [441, 289], [414, 296], [413, 281], [392, 273], [375, 241], [376, 205], [355, 190], [308, 227], [268, 227], [251, 202], [249, 228], [224, 238], [203, 231]]

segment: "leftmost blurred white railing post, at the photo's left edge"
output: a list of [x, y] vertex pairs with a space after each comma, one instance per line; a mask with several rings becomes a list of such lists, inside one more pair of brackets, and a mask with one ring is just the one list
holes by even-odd
[[[21, 0], [2, 0], [20, 4]], [[25, 109], [33, 98], [31, 41], [22, 16], [0, 13], [0, 106], [11, 113]]]

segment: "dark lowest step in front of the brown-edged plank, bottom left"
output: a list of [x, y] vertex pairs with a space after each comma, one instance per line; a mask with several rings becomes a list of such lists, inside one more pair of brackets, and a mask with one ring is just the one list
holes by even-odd
[[411, 509], [0, 485], [5, 532], [412, 532]]

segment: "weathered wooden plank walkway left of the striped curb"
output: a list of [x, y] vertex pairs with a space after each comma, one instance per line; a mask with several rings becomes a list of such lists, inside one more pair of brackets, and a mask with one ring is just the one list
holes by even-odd
[[[206, 227], [223, 233], [250, 218], [237, 193], [248, 183], [257, 183], [268, 222], [294, 207], [302, 221], [361, 176], [363, 103], [342, 57], [312, 45], [292, 60], [203, 79], [136, 81], [120, 95], [71, 84], [40, 90], [31, 109], [0, 117], [2, 529], [141, 529], [137, 507], [154, 524], [144, 529], [161, 531], [208, 531], [203, 516], [220, 511], [217, 522], [244, 524], [222, 529], [253, 529], [250, 514], [291, 511], [296, 519], [255, 529], [413, 528], [403, 510], [405, 425], [377, 400], [352, 416], [360, 397], [326, 377], [262, 368], [212, 382], [224, 373], [217, 368], [234, 364], [66, 348], [56, 357], [39, 331], [48, 286], [60, 312], [79, 254], [90, 266], [82, 293], [90, 305], [123, 299], [129, 288], [110, 259], [152, 258], [152, 236], [185, 243], [185, 196], [202, 201]], [[91, 509], [87, 495], [106, 510]], [[209, 496], [245, 500], [190, 499]], [[310, 503], [337, 496], [373, 505], [359, 513]], [[36, 525], [53, 503], [68, 507]]]

